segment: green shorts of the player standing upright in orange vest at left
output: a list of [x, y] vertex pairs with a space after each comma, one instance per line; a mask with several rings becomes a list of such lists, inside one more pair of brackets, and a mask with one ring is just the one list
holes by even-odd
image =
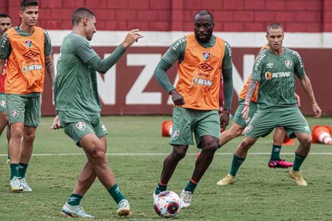
[[6, 110], [9, 124], [24, 122], [24, 126], [39, 126], [41, 97], [6, 95]]

